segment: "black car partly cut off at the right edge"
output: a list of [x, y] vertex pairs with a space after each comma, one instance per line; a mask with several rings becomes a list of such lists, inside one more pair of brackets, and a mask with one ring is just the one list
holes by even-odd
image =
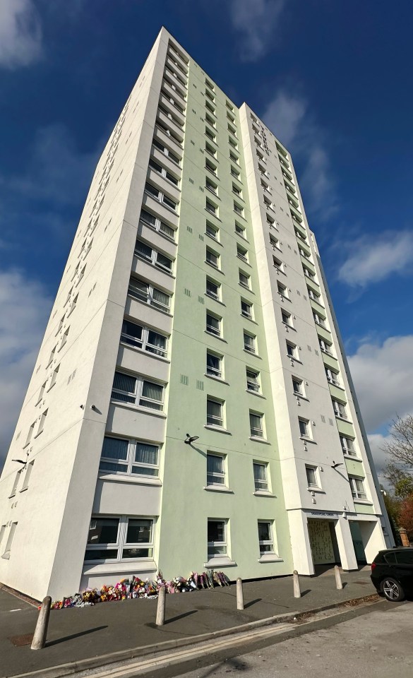
[[379, 551], [371, 563], [371, 581], [388, 600], [413, 595], [413, 548]]

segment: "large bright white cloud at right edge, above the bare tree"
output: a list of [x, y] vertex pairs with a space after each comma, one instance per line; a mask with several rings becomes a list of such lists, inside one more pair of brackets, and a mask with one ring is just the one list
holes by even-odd
[[413, 412], [413, 335], [364, 343], [348, 360], [369, 434]]

